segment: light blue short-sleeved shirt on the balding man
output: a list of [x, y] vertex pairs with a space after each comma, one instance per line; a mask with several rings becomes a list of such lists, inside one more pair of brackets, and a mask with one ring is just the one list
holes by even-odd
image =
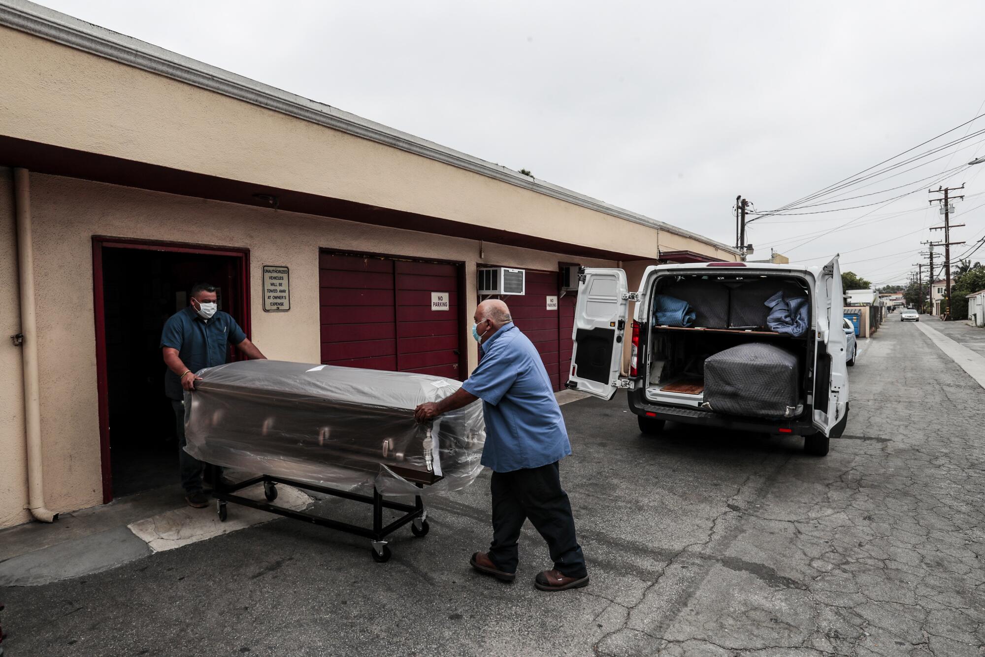
[[482, 464], [495, 472], [512, 472], [570, 454], [551, 377], [530, 339], [509, 323], [480, 349], [483, 359], [462, 387], [483, 400]]

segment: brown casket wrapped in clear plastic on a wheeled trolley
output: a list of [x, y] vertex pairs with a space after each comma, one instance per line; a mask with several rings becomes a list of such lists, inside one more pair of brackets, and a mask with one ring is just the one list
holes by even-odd
[[456, 491], [482, 470], [480, 402], [414, 420], [419, 404], [452, 394], [459, 381], [285, 361], [230, 362], [198, 375], [184, 396], [185, 451], [201, 461], [390, 494]]

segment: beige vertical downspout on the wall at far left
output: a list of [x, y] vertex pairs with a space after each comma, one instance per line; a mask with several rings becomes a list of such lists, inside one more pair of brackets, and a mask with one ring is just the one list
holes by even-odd
[[41, 468], [41, 405], [37, 375], [37, 318], [34, 314], [34, 250], [31, 239], [31, 182], [26, 168], [14, 169], [17, 264], [21, 287], [22, 361], [25, 433], [28, 441], [28, 509], [35, 520], [54, 522], [58, 514], [44, 506]]

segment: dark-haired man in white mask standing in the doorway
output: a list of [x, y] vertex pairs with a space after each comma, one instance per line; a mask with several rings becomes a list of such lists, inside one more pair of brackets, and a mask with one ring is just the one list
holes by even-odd
[[226, 362], [230, 342], [251, 360], [267, 358], [246, 338], [229, 313], [218, 310], [217, 298], [215, 286], [199, 283], [191, 289], [188, 307], [171, 315], [161, 333], [161, 349], [167, 365], [164, 394], [171, 400], [177, 421], [181, 486], [185, 501], [196, 508], [207, 506], [209, 498], [202, 492], [202, 462], [184, 450], [184, 391], [195, 390], [195, 381], [201, 380], [195, 372]]

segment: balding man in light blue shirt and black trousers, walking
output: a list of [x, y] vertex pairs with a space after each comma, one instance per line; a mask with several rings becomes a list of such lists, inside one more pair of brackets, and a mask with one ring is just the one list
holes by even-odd
[[513, 324], [500, 300], [476, 308], [472, 337], [482, 361], [457, 392], [415, 411], [419, 422], [483, 400], [486, 445], [482, 464], [493, 469], [493, 543], [472, 556], [472, 567], [503, 581], [516, 577], [517, 540], [530, 519], [547, 541], [555, 567], [537, 575], [542, 591], [588, 584], [574, 516], [560, 487], [558, 461], [571, 453], [564, 418], [537, 349]]

